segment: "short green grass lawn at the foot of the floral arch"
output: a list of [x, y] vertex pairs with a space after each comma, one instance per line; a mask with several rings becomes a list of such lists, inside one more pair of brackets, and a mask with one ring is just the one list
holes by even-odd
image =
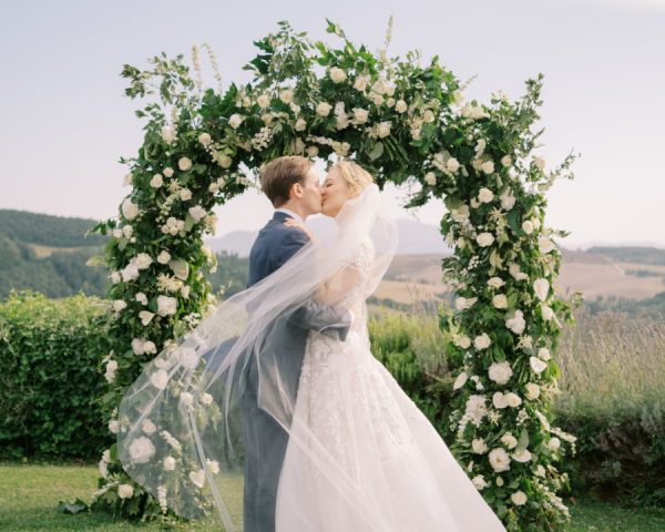
[[[94, 466], [24, 466], [0, 464], [0, 530], [22, 531], [89, 531], [123, 530], [157, 531], [157, 524], [132, 525], [114, 522], [106, 515], [58, 513], [58, 501], [81, 498], [91, 500], [96, 490], [99, 472]], [[659, 532], [665, 530], [665, 509], [625, 510], [607, 503], [577, 501], [569, 504], [573, 522], [571, 532]], [[218, 525], [178, 525], [182, 531], [218, 531]]]

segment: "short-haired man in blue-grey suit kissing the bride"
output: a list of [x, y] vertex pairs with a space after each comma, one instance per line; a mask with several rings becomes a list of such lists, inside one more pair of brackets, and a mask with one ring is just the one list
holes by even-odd
[[[294, 256], [307, 242], [307, 234], [285, 225], [287, 218], [304, 222], [321, 212], [321, 188], [307, 157], [286, 155], [262, 170], [260, 184], [275, 214], [260, 229], [249, 252], [248, 287], [260, 282]], [[296, 282], [294, 279], [294, 282]], [[295, 398], [309, 330], [346, 339], [352, 315], [346, 309], [306, 301], [284, 325], [276, 327], [266, 354], [275, 364], [289, 395]], [[258, 368], [252, 359], [242, 397], [245, 443], [244, 531], [274, 532], [277, 484], [288, 442], [288, 433], [258, 403]]]

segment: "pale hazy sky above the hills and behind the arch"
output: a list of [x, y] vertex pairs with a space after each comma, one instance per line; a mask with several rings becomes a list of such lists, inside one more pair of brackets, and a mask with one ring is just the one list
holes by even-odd
[[[207, 42], [227, 86], [248, 80], [253, 41], [279, 20], [334, 42], [330, 18], [376, 50], [390, 14], [390, 55], [419, 49], [462, 81], [478, 75], [468, 99], [515, 99], [545, 74], [538, 153], [549, 166], [582, 153], [575, 180], [548, 196], [546, 224], [571, 231], [562, 245], [665, 247], [665, 0], [0, 0], [0, 208], [115, 216], [129, 192], [117, 160], [136, 153], [143, 126], [141, 102], [123, 95], [124, 63]], [[387, 194], [396, 216], [438, 225], [442, 205], [407, 213]], [[262, 227], [270, 206], [249, 192], [216, 212], [222, 236]]]

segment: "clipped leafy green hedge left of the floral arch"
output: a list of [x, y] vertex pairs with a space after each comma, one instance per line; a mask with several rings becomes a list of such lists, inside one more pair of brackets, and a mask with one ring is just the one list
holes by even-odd
[[0, 303], [0, 458], [86, 459], [111, 441], [102, 299], [12, 291]]

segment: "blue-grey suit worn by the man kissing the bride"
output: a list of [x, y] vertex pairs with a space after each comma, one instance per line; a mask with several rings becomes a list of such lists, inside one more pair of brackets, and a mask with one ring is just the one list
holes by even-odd
[[[249, 252], [249, 282], [255, 285], [293, 257], [308, 242], [305, 232], [284, 224], [288, 214], [276, 212], [260, 229]], [[260, 357], [274, 364], [279, 379], [295, 398], [309, 330], [318, 330], [345, 340], [351, 324], [350, 314], [336, 307], [306, 301], [288, 321], [279, 321], [269, 332], [273, 352]], [[244, 531], [274, 532], [277, 483], [288, 442], [283, 427], [259, 408], [258, 372], [254, 357], [246, 368], [243, 405], [243, 439], [245, 444]], [[263, 361], [262, 361], [263, 364]]]

